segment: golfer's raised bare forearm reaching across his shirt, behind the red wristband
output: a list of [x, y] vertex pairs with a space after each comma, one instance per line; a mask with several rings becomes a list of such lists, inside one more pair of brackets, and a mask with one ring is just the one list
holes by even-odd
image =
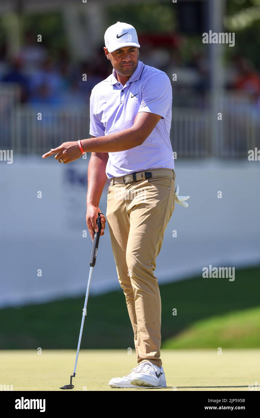
[[81, 140], [85, 152], [113, 153], [141, 145], [140, 133], [133, 127], [97, 138]]

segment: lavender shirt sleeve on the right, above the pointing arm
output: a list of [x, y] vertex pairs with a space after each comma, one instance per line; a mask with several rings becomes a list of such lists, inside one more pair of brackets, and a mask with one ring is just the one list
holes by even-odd
[[172, 84], [165, 73], [157, 74], [145, 84], [139, 112], [149, 112], [164, 118], [172, 107]]

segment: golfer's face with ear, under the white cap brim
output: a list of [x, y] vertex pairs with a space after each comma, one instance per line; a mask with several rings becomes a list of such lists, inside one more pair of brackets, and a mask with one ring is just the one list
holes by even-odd
[[130, 77], [134, 74], [138, 65], [139, 48], [136, 46], [124, 46], [116, 49], [114, 52], [109, 52], [104, 47], [104, 51], [117, 73], [125, 77]]

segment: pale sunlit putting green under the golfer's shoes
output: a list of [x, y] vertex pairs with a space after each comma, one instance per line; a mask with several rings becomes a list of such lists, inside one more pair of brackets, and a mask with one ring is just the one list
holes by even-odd
[[[1, 385], [13, 391], [56, 391], [68, 385], [76, 350], [3, 350], [0, 354]], [[82, 350], [73, 390], [169, 390], [248, 391], [260, 385], [260, 349], [162, 350], [167, 388], [112, 389], [111, 377], [126, 375], [136, 366], [136, 354], [128, 350]], [[235, 387], [234, 387], [235, 386]], [[254, 388], [254, 390], [257, 388]], [[259, 390], [259, 388], [258, 388]], [[68, 395], [66, 395], [68, 396]]]

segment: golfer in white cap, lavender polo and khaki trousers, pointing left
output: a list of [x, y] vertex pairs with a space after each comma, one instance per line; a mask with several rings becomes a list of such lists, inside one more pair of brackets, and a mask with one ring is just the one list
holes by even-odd
[[117, 22], [105, 33], [104, 52], [113, 71], [90, 97], [91, 138], [63, 143], [43, 155], [69, 163], [91, 152], [86, 222], [93, 240], [107, 178], [106, 219], [116, 271], [134, 331], [137, 366], [114, 377], [111, 387], [165, 387], [160, 357], [161, 298], [154, 275], [156, 258], [178, 196], [172, 145], [172, 86], [163, 71], [139, 61], [137, 33]]

